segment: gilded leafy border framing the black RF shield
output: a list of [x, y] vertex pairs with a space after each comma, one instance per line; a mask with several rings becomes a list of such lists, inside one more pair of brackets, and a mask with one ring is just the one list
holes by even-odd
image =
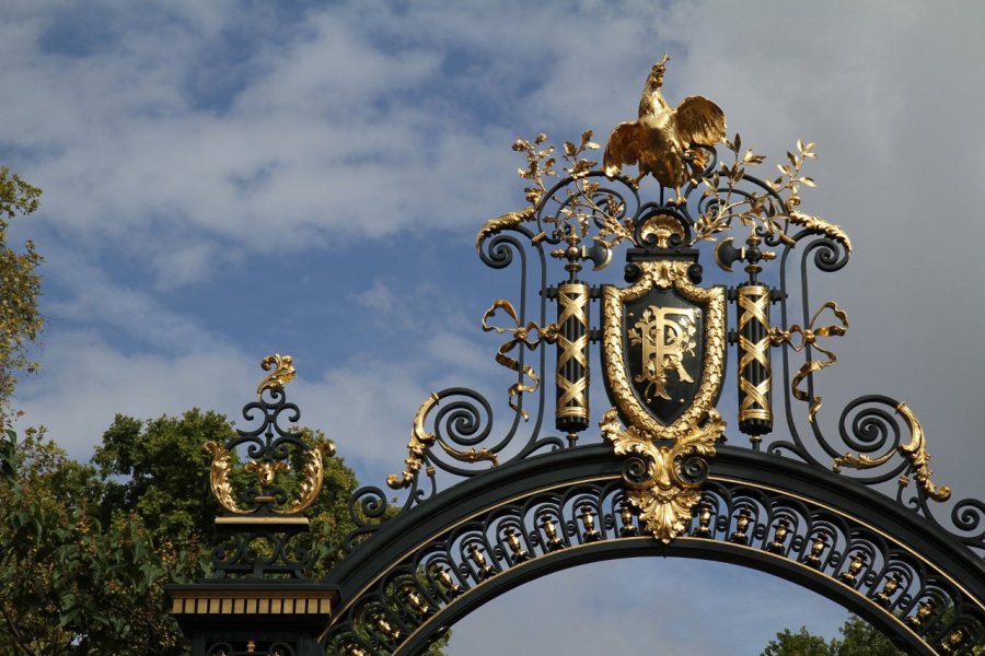
[[[605, 371], [612, 395], [627, 421], [660, 440], [677, 440], [690, 434], [693, 426], [712, 409], [725, 368], [725, 290], [705, 289], [687, 279], [688, 262], [660, 260], [640, 262], [641, 276], [636, 283], [621, 290], [606, 286], [602, 305], [602, 366]], [[624, 303], [635, 301], [652, 288], [674, 288], [693, 303], [702, 304], [705, 311], [704, 362], [702, 378], [695, 400], [671, 425], [659, 423], [639, 401], [626, 371], [622, 336]]]

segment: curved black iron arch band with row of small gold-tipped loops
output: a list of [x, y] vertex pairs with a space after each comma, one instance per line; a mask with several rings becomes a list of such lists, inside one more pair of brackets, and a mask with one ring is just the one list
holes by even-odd
[[[523, 583], [639, 555], [716, 560], [784, 577], [914, 654], [941, 651], [952, 624], [939, 617], [946, 607], [981, 631], [982, 561], [913, 512], [830, 472], [721, 447], [687, 535], [669, 544], [641, 535], [638, 518], [623, 522], [622, 494], [619, 464], [603, 445], [512, 462], [447, 490], [387, 522], [332, 572], [325, 583], [338, 586], [343, 602], [327, 644], [343, 654], [416, 654]], [[510, 531], [519, 543], [503, 538]], [[928, 600], [936, 611], [917, 620]]]

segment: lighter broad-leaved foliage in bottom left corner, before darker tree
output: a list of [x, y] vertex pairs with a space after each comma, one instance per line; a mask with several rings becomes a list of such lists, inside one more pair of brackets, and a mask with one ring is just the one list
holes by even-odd
[[102, 523], [95, 468], [44, 434], [3, 441], [0, 643], [27, 655], [177, 654], [163, 585], [205, 574], [202, 550], [154, 544], [140, 517]]

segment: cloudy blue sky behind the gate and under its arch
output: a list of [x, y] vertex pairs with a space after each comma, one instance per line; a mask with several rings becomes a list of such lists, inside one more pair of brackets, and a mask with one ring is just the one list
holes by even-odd
[[[940, 482], [981, 497], [983, 13], [973, 2], [8, 0], [0, 162], [45, 189], [42, 211], [14, 227], [47, 258], [49, 321], [42, 371], [18, 393], [24, 422], [86, 459], [117, 412], [234, 415], [259, 359], [287, 352], [304, 423], [379, 484], [431, 390], [490, 389], [506, 412], [499, 339], [478, 323], [513, 279], [485, 269], [472, 243], [486, 219], [524, 204], [510, 143], [584, 129], [604, 140], [634, 117], [668, 51], [668, 98], [712, 98], [768, 163], [799, 138], [818, 142], [804, 209], [856, 247], [815, 296], [851, 320], [819, 382], [827, 421], [861, 394], [906, 400]], [[638, 565], [610, 565], [627, 563]], [[743, 639], [740, 653], [784, 625], [830, 633], [844, 617], [744, 571], [641, 566], [671, 589], [697, 582], [707, 604], [765, 609], [723, 633], [719, 644]], [[503, 599], [521, 611], [563, 599], [588, 623], [621, 608], [599, 567]], [[602, 610], [576, 602], [599, 586]], [[657, 588], [627, 601], [654, 635], [687, 614]], [[460, 635], [488, 635], [494, 611]], [[533, 651], [525, 614], [513, 637]], [[615, 622], [587, 625], [601, 635]], [[720, 653], [699, 637], [675, 642]]]

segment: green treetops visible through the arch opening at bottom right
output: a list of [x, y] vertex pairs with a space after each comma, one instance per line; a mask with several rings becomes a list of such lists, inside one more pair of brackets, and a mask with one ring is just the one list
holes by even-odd
[[861, 618], [849, 616], [838, 632], [842, 637], [825, 641], [812, 635], [806, 626], [792, 633], [789, 629], [769, 641], [763, 656], [905, 656], [890, 639]]

